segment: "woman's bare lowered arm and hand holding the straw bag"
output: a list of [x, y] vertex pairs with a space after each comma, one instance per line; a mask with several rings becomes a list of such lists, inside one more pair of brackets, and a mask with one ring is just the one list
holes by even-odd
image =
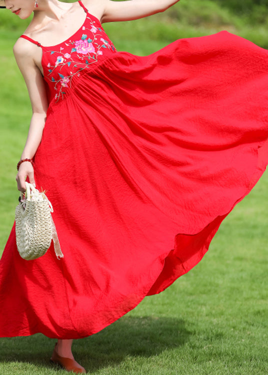
[[[21, 159], [33, 158], [41, 141], [48, 106], [43, 77], [34, 61], [36, 54], [39, 53], [36, 48], [39, 47], [21, 38], [17, 40], [13, 48], [17, 65], [27, 86], [32, 107], [28, 136]], [[22, 192], [25, 191], [27, 176], [30, 183], [35, 184], [33, 166], [29, 161], [24, 161], [20, 164], [16, 175], [17, 188]]]

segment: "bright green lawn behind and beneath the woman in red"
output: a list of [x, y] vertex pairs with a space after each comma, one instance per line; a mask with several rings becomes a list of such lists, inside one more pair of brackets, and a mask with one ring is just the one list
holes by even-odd
[[[182, 3], [192, 9], [190, 1]], [[207, 4], [203, 1], [198, 5], [203, 12], [202, 21]], [[219, 5], [215, 2], [212, 6], [216, 9]], [[178, 6], [175, 9], [176, 12]], [[137, 54], [153, 52], [175, 37], [217, 30], [215, 22], [209, 28], [211, 19], [198, 25], [193, 13], [188, 27], [186, 15], [179, 24], [166, 24], [167, 18], [159, 22], [160, 16], [166, 17], [161, 14], [151, 21], [105, 27], [119, 49]], [[169, 14], [168, 20], [171, 18]], [[226, 28], [235, 32], [242, 20], [235, 23], [234, 18], [238, 22], [238, 17], [226, 8], [219, 23], [225, 22]], [[250, 37], [254, 32], [258, 37], [261, 34], [259, 27], [254, 32], [243, 27], [241, 33]], [[261, 27], [264, 40], [265, 27]], [[0, 29], [0, 63], [4, 66], [0, 90], [0, 249], [14, 218], [18, 197], [15, 165], [31, 114], [23, 79], [11, 52], [20, 32], [19, 28], [8, 32]], [[223, 221], [208, 253], [189, 273], [159, 295], [146, 297], [101, 332], [74, 342], [75, 356], [88, 373], [267, 375], [267, 189], [266, 172]], [[0, 338], [0, 375], [65, 373], [49, 363], [53, 342], [41, 334]]]

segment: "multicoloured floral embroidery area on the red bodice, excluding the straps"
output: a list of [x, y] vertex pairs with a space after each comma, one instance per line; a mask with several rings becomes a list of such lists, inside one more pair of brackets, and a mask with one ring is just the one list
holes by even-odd
[[[79, 33], [80, 32], [80, 35]], [[96, 21], [87, 15], [83, 26], [73, 35], [74, 39], [65, 40], [61, 45], [56, 45], [57, 50], [44, 47], [46, 58], [55, 54], [54, 62], [47, 63], [45, 79], [51, 82], [56, 90], [55, 99], [63, 98], [63, 95], [71, 88], [74, 76], [79, 77], [80, 72], [98, 61], [98, 56], [116, 52], [113, 44], [101, 27], [96, 27]], [[105, 39], [107, 38], [107, 40]], [[105, 53], [103, 53], [105, 51]], [[110, 52], [108, 52], [110, 51]], [[66, 90], [67, 89], [67, 90]]]

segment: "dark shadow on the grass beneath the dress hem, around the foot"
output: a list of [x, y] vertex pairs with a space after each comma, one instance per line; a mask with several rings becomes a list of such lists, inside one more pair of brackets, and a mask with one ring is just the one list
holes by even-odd
[[[123, 316], [102, 331], [75, 340], [73, 353], [89, 371], [116, 366], [129, 356], [150, 357], [183, 345], [191, 333], [184, 321], [174, 317]], [[38, 333], [29, 337], [0, 338], [1, 362], [48, 364], [53, 342]]]

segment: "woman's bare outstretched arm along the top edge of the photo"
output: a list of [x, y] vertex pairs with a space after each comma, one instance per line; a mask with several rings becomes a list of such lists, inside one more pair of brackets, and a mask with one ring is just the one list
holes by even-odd
[[129, 21], [164, 11], [179, 0], [102, 1], [103, 15], [101, 22], [113, 22]]

